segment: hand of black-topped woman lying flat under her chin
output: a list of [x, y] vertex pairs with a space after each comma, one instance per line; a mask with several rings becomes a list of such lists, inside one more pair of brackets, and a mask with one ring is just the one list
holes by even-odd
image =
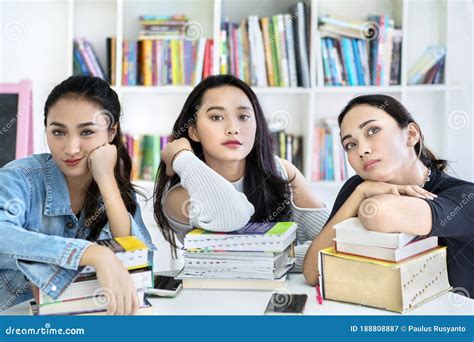
[[437, 195], [423, 189], [418, 185], [397, 185], [384, 182], [365, 181], [357, 186], [364, 198], [377, 195], [391, 194], [395, 196], [412, 196], [425, 199], [434, 199]]

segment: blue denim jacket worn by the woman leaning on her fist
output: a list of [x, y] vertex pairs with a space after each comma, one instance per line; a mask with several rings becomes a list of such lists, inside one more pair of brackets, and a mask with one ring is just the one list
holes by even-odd
[[[138, 205], [130, 220], [132, 235], [155, 249]], [[56, 299], [74, 281], [92, 243], [84, 221], [73, 213], [64, 174], [50, 154], [0, 169], [0, 311], [30, 299], [30, 283]], [[108, 238], [107, 224], [99, 239]]]

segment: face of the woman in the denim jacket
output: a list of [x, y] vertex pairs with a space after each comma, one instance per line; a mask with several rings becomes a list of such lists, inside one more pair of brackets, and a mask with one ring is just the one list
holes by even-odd
[[62, 98], [48, 111], [46, 137], [54, 161], [69, 177], [88, 175], [88, 156], [112, 141], [109, 117], [95, 103]]

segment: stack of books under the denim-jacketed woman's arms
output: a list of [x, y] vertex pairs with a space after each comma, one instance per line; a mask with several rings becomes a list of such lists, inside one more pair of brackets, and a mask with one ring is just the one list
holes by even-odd
[[[139, 299], [139, 314], [145, 314], [150, 305], [145, 301], [145, 289], [153, 286], [152, 266], [148, 263], [148, 248], [135, 236], [99, 240], [97, 244], [110, 248], [130, 273]], [[34, 315], [103, 314], [107, 310], [106, 289], [102, 289], [95, 269], [86, 266], [79, 276], [57, 298], [41, 289], [33, 288], [34, 301], [30, 310]]]

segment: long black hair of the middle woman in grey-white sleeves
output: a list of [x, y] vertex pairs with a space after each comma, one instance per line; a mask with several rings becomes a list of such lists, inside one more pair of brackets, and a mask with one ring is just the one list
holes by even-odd
[[[280, 177], [277, 172], [273, 154], [273, 140], [270, 135], [265, 116], [263, 114], [257, 96], [252, 89], [243, 81], [232, 75], [210, 76], [199, 83], [189, 94], [183, 109], [179, 114], [170, 140], [187, 138], [191, 147], [201, 160], [205, 162], [202, 145], [193, 141], [188, 134], [190, 126], [196, 124], [196, 117], [202, 105], [204, 93], [213, 88], [232, 86], [242, 90], [252, 104], [255, 113], [257, 131], [255, 143], [246, 157], [244, 194], [255, 207], [255, 213], [251, 221], [282, 221], [290, 216], [289, 181]], [[171, 177], [166, 175], [166, 165], [161, 162], [154, 191], [154, 216], [165, 239], [176, 247], [176, 240], [170, 222], [163, 212], [162, 198], [168, 187], [180, 182], [178, 175]]]

